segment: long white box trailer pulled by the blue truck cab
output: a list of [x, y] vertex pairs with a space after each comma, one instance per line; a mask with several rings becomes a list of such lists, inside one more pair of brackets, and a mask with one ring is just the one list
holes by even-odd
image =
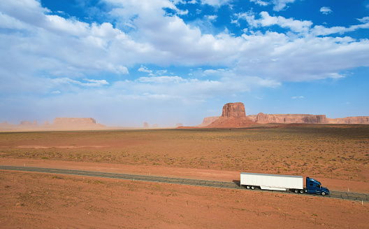
[[303, 176], [277, 174], [254, 174], [241, 172], [241, 186], [246, 188], [260, 187], [268, 190], [294, 190], [303, 193]]

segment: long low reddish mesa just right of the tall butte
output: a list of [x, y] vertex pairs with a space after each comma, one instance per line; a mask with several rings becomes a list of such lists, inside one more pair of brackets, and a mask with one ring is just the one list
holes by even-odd
[[311, 123], [311, 124], [327, 123], [325, 115], [258, 113], [256, 116], [252, 115], [247, 117], [249, 117], [256, 123]]

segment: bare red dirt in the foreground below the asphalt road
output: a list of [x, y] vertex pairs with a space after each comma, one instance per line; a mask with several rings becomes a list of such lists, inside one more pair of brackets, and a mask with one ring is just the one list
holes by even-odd
[[0, 228], [366, 228], [369, 204], [0, 171]]

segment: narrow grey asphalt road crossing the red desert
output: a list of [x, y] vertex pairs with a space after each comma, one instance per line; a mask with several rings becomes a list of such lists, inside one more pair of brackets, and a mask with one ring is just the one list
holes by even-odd
[[[135, 174], [117, 174], [117, 173], [109, 173], [109, 172], [93, 172], [93, 171], [82, 171], [82, 170], [71, 170], [71, 169], [52, 169], [52, 168], [39, 168], [39, 167], [17, 167], [17, 166], [6, 166], [0, 165], [0, 169], [3, 170], [14, 170], [14, 171], [24, 171], [24, 172], [43, 172], [50, 174], [68, 174], [68, 175], [78, 175], [78, 176], [95, 176], [95, 177], [105, 177], [112, 179], [124, 179], [124, 180], [132, 180], [132, 181], [150, 181], [150, 182], [158, 182], [158, 183], [177, 183], [188, 186], [204, 186], [204, 187], [212, 187], [212, 188], [230, 188], [230, 189], [239, 189], [239, 190], [247, 190], [247, 191], [261, 191], [261, 192], [269, 192], [269, 193], [288, 193], [290, 195], [311, 195], [311, 194], [301, 194], [301, 193], [292, 193], [292, 192], [281, 192], [275, 190], [248, 190], [244, 187], [240, 187], [240, 183], [238, 182], [224, 182], [224, 181], [206, 181], [206, 180], [197, 180], [197, 179], [184, 179], [184, 178], [174, 178], [174, 177], [165, 177], [165, 176], [144, 176], [144, 175], [135, 175]], [[354, 200], [354, 201], [363, 201], [369, 202], [369, 195], [365, 193], [347, 193], [331, 190], [331, 195], [321, 196], [316, 195], [323, 198], [335, 198], [340, 200]]]

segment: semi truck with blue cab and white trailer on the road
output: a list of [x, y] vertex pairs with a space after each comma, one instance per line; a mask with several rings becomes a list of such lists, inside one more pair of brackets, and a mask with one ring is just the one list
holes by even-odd
[[328, 188], [321, 186], [319, 181], [310, 177], [306, 177], [306, 187], [304, 187], [303, 176], [241, 172], [240, 185], [247, 189], [261, 188], [266, 190], [291, 190], [294, 193], [330, 194]]

